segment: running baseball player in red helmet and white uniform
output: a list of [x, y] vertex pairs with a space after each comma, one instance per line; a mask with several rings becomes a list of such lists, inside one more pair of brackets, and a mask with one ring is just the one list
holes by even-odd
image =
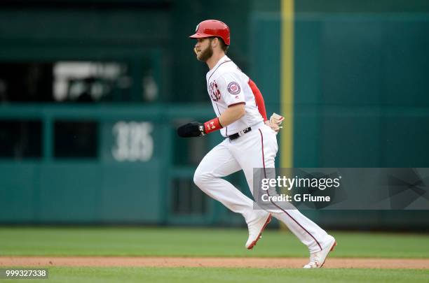
[[334, 237], [296, 209], [254, 209], [254, 201], [222, 179], [243, 170], [252, 191], [253, 168], [274, 168], [279, 120], [268, 121], [261, 92], [226, 56], [230, 31], [224, 22], [200, 22], [196, 33], [189, 37], [196, 38], [196, 58], [204, 61], [209, 68], [206, 75], [207, 92], [216, 117], [205, 123], [184, 124], [177, 129], [177, 133], [181, 137], [199, 137], [220, 131], [225, 138], [205, 155], [196, 169], [193, 181], [205, 194], [243, 215], [249, 230], [249, 238], [245, 243], [247, 249], [257, 244], [272, 215], [285, 223], [308, 247], [310, 262], [304, 268], [322, 267], [327, 254], [336, 245]]

